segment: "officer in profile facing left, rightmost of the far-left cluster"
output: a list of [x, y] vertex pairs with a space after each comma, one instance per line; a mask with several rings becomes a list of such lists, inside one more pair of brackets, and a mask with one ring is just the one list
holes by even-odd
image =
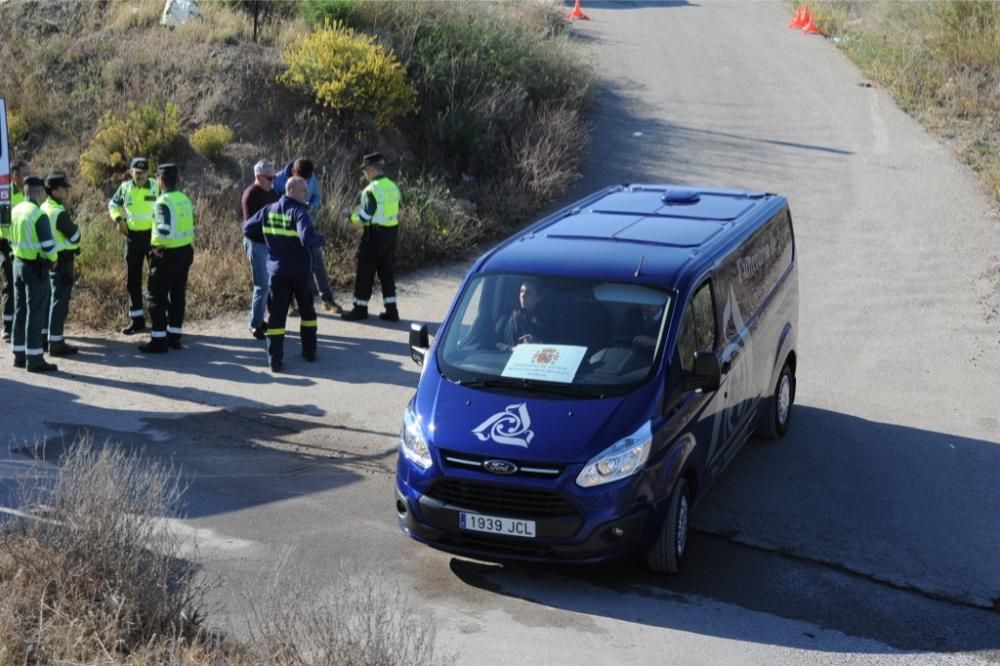
[[73, 345], [66, 344], [63, 338], [63, 326], [66, 315], [69, 314], [69, 299], [76, 282], [76, 270], [73, 267], [76, 255], [80, 254], [80, 227], [76, 226], [66, 210], [66, 195], [69, 194], [69, 181], [66, 174], [53, 172], [45, 177], [45, 191], [48, 199], [42, 204], [42, 211], [52, 225], [52, 238], [56, 242], [56, 268], [49, 271], [50, 301], [48, 342], [50, 356], [71, 356], [78, 351]]

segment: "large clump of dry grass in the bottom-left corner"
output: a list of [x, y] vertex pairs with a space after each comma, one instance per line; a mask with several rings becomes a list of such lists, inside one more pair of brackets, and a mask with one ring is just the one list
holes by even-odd
[[81, 440], [50, 482], [25, 483], [41, 520], [8, 525], [0, 548], [0, 662], [86, 663], [164, 638], [202, 641], [203, 586], [159, 520], [175, 470]]

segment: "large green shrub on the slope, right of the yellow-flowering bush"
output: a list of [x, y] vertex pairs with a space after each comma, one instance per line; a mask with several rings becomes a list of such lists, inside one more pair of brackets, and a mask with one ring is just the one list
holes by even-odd
[[362, 3], [357, 21], [383, 35], [420, 92], [419, 152], [452, 175], [489, 176], [532, 112], [580, 109], [591, 76], [547, 14], [519, 5], [460, 2]]

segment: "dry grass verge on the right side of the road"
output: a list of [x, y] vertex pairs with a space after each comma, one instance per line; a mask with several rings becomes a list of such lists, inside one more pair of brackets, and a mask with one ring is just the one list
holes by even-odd
[[818, 22], [1000, 201], [1000, 3], [810, 3]]

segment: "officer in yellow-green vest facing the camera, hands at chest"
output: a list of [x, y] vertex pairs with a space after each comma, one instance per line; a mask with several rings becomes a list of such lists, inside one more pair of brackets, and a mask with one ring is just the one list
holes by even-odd
[[142, 312], [142, 263], [149, 257], [153, 228], [153, 205], [160, 196], [156, 181], [149, 178], [149, 160], [132, 159], [131, 178], [118, 186], [108, 202], [111, 219], [125, 236], [125, 268], [128, 284], [128, 316], [132, 323], [122, 329], [125, 335], [146, 330]]

